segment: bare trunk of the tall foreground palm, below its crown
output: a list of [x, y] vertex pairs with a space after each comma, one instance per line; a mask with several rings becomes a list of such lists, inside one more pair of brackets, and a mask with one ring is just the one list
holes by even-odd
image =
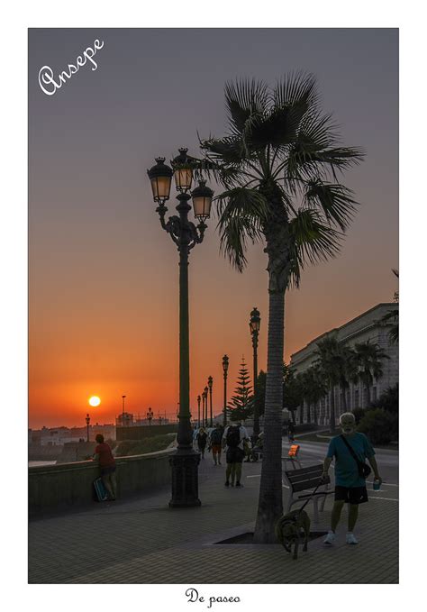
[[275, 525], [283, 514], [282, 432], [285, 291], [270, 291], [268, 363], [264, 413], [264, 453], [254, 543], [275, 543]]

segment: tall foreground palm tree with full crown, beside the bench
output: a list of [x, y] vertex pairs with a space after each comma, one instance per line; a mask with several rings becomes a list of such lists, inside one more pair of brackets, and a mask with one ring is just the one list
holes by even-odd
[[239, 271], [247, 242], [264, 241], [268, 257], [268, 366], [265, 453], [254, 541], [275, 542], [282, 515], [281, 406], [286, 289], [298, 287], [307, 263], [335, 256], [356, 201], [337, 174], [362, 159], [339, 142], [331, 114], [322, 114], [316, 80], [291, 74], [269, 88], [243, 80], [225, 87], [229, 130], [201, 141], [212, 168], [221, 247]]

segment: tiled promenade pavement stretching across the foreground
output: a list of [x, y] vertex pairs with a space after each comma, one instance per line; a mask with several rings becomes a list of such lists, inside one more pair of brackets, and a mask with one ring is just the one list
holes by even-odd
[[[244, 488], [223, 487], [224, 466], [199, 470], [202, 507], [168, 508], [169, 489], [29, 525], [30, 583], [396, 583], [398, 504], [387, 490], [360, 508], [360, 543], [309, 543], [297, 561], [279, 545], [213, 544], [256, 514], [260, 465], [243, 464]], [[248, 478], [249, 477], [249, 478]], [[286, 489], [284, 501], [286, 501]], [[332, 496], [330, 496], [331, 498]], [[311, 504], [309, 505], [311, 507]], [[319, 528], [327, 528], [331, 499]], [[345, 516], [343, 516], [345, 518]], [[312, 523], [312, 529], [317, 528]]]

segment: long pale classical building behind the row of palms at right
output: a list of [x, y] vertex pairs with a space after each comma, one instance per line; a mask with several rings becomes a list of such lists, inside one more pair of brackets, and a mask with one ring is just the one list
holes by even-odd
[[[341, 343], [346, 343], [350, 347], [353, 347], [356, 343], [370, 343], [378, 344], [389, 356], [390, 359], [383, 361], [384, 374], [380, 379], [374, 380], [374, 384], [371, 388], [371, 399], [375, 400], [381, 395], [381, 393], [389, 387], [395, 386], [398, 382], [399, 377], [399, 362], [398, 362], [398, 345], [391, 343], [388, 333], [390, 331], [391, 324], [385, 324], [382, 322], [382, 318], [390, 310], [396, 310], [399, 305], [395, 302], [378, 304], [373, 308], [370, 308], [362, 315], [351, 319], [348, 323], [341, 325], [329, 332], [323, 333], [322, 335], [314, 338], [312, 342], [304, 346], [304, 349], [295, 352], [291, 355], [290, 366], [295, 370], [296, 373], [304, 372], [313, 365], [316, 359], [315, 352], [317, 350], [317, 343], [323, 338], [329, 335], [336, 334], [337, 339]], [[363, 386], [362, 382], [350, 383], [350, 388], [346, 391], [347, 409], [352, 410], [354, 408], [365, 408], [367, 407], [367, 388]], [[335, 409], [337, 420], [343, 412], [343, 401], [342, 391], [338, 387], [335, 388]], [[317, 414], [319, 416], [319, 425], [329, 424], [329, 397], [325, 396], [319, 402], [317, 406]], [[300, 411], [296, 412], [297, 420], [300, 420]], [[303, 410], [303, 422], [307, 421], [307, 406], [304, 406]]]

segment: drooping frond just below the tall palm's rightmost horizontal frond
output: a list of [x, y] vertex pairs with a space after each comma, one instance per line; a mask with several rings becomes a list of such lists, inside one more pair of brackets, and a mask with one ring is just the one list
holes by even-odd
[[320, 208], [328, 223], [338, 225], [342, 232], [350, 224], [357, 205], [353, 192], [348, 187], [319, 179], [307, 182], [304, 206]]

